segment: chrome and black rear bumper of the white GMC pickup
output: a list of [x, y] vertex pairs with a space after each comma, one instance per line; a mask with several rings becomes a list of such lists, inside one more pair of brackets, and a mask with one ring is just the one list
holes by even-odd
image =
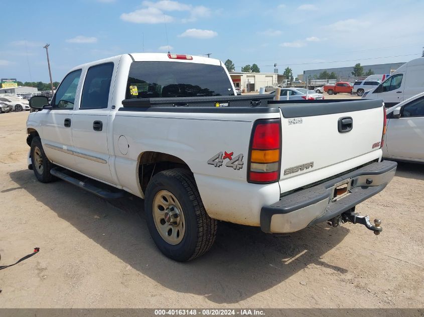
[[[288, 233], [334, 218], [382, 191], [396, 172], [396, 162], [369, 164], [353, 172], [283, 196], [260, 212], [260, 228], [267, 233]], [[348, 194], [333, 200], [335, 188], [347, 183]]]

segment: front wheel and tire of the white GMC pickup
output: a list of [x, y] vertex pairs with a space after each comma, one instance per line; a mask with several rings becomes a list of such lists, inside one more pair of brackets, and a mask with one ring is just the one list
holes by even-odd
[[40, 137], [34, 137], [31, 142], [31, 163], [35, 177], [40, 182], [50, 183], [56, 180], [56, 177], [50, 174], [50, 170], [54, 167], [54, 164], [49, 161], [46, 153], [44, 153]]

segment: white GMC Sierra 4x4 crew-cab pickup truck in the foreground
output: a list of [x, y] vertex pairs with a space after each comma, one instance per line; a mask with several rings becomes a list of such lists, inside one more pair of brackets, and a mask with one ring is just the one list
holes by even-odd
[[29, 168], [44, 183], [144, 198], [153, 240], [178, 261], [211, 247], [218, 220], [267, 233], [324, 221], [382, 230], [355, 213], [396, 170], [381, 161], [380, 100], [235, 95], [210, 58], [137, 53], [77, 66], [50, 104], [30, 101]]

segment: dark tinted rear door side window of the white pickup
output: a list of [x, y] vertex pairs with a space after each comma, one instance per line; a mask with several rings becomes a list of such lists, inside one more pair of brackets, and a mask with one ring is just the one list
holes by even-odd
[[107, 108], [113, 63], [92, 66], [85, 76], [80, 109]]

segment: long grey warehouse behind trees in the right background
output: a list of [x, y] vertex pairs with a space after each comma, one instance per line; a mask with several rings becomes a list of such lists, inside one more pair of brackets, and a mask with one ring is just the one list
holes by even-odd
[[[364, 73], [366, 73], [368, 70], [371, 70], [376, 75], [383, 75], [383, 74], [391, 74], [393, 71], [397, 70], [400, 66], [402, 66], [405, 63], [389, 63], [389, 64], [377, 64], [377, 65], [361, 65], [364, 68]], [[338, 78], [348, 78], [353, 77], [353, 66], [352, 67], [339, 67], [339, 68], [323, 68], [323, 69], [316, 69], [316, 70], [308, 70], [304, 71], [304, 79], [308, 78], [314, 79], [315, 77], [318, 77], [320, 73], [327, 71], [329, 73], [336, 73]]]

